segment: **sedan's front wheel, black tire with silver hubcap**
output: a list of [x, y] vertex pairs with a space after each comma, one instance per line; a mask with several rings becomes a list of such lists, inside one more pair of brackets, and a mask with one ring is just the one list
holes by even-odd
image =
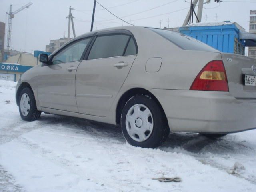
[[19, 112], [20, 116], [25, 121], [37, 120], [41, 112], [36, 108], [36, 100], [34, 93], [28, 87], [22, 89], [19, 95]]

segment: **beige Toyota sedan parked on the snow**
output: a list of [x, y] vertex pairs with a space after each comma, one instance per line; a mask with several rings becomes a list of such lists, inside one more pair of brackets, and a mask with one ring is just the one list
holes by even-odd
[[117, 124], [155, 148], [169, 132], [223, 136], [256, 127], [256, 60], [188, 36], [125, 26], [72, 39], [19, 79], [23, 120], [41, 112]]

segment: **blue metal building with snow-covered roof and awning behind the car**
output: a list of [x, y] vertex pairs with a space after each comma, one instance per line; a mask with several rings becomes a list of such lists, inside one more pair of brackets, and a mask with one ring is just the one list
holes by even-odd
[[[179, 28], [179, 32], [200, 40], [221, 52], [244, 55], [245, 46], [256, 45], [256, 35], [249, 34], [237, 23], [199, 23]], [[249, 34], [249, 35], [248, 35]]]

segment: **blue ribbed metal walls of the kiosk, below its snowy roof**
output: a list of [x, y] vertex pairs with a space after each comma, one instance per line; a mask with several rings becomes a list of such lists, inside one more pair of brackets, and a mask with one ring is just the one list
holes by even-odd
[[244, 55], [245, 41], [239, 39], [239, 29], [235, 24], [216, 26], [184, 26], [180, 33], [200, 40], [226, 53]]

